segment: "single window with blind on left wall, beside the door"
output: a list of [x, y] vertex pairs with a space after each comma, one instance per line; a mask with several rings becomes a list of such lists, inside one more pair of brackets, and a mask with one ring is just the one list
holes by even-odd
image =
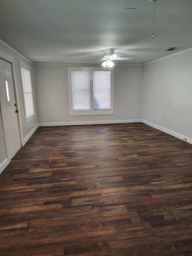
[[19, 61], [20, 73], [21, 73], [21, 83], [23, 91], [23, 101], [25, 108], [25, 120], [29, 123], [34, 117], [34, 107], [33, 107], [33, 95], [32, 95], [32, 85], [31, 85], [31, 72], [30, 67], [21, 61]]

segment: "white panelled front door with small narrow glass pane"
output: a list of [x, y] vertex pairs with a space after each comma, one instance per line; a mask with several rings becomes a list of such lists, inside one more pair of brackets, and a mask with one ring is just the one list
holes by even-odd
[[0, 59], [0, 104], [4, 129], [7, 158], [10, 159], [19, 150], [19, 126], [16, 112], [16, 100], [13, 87], [11, 64]]

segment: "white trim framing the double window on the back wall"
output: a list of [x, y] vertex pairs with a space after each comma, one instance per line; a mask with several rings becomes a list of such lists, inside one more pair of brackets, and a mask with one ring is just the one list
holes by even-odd
[[[91, 109], [89, 109], [89, 110], [73, 110], [71, 71], [91, 71], [90, 72]], [[112, 114], [114, 114], [114, 108], [113, 108], [114, 68], [111, 68], [111, 108], [110, 109], [101, 109], [101, 110], [93, 109], [93, 77], [92, 77], [93, 71], [106, 71], [106, 69], [104, 69], [103, 67], [67, 67], [68, 89], [69, 89], [69, 115], [70, 116], [112, 115]]]

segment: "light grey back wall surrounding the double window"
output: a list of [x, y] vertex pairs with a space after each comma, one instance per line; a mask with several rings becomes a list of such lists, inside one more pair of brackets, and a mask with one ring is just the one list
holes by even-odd
[[37, 64], [35, 81], [40, 126], [141, 121], [143, 65], [115, 66], [113, 115], [69, 116], [67, 65]]

